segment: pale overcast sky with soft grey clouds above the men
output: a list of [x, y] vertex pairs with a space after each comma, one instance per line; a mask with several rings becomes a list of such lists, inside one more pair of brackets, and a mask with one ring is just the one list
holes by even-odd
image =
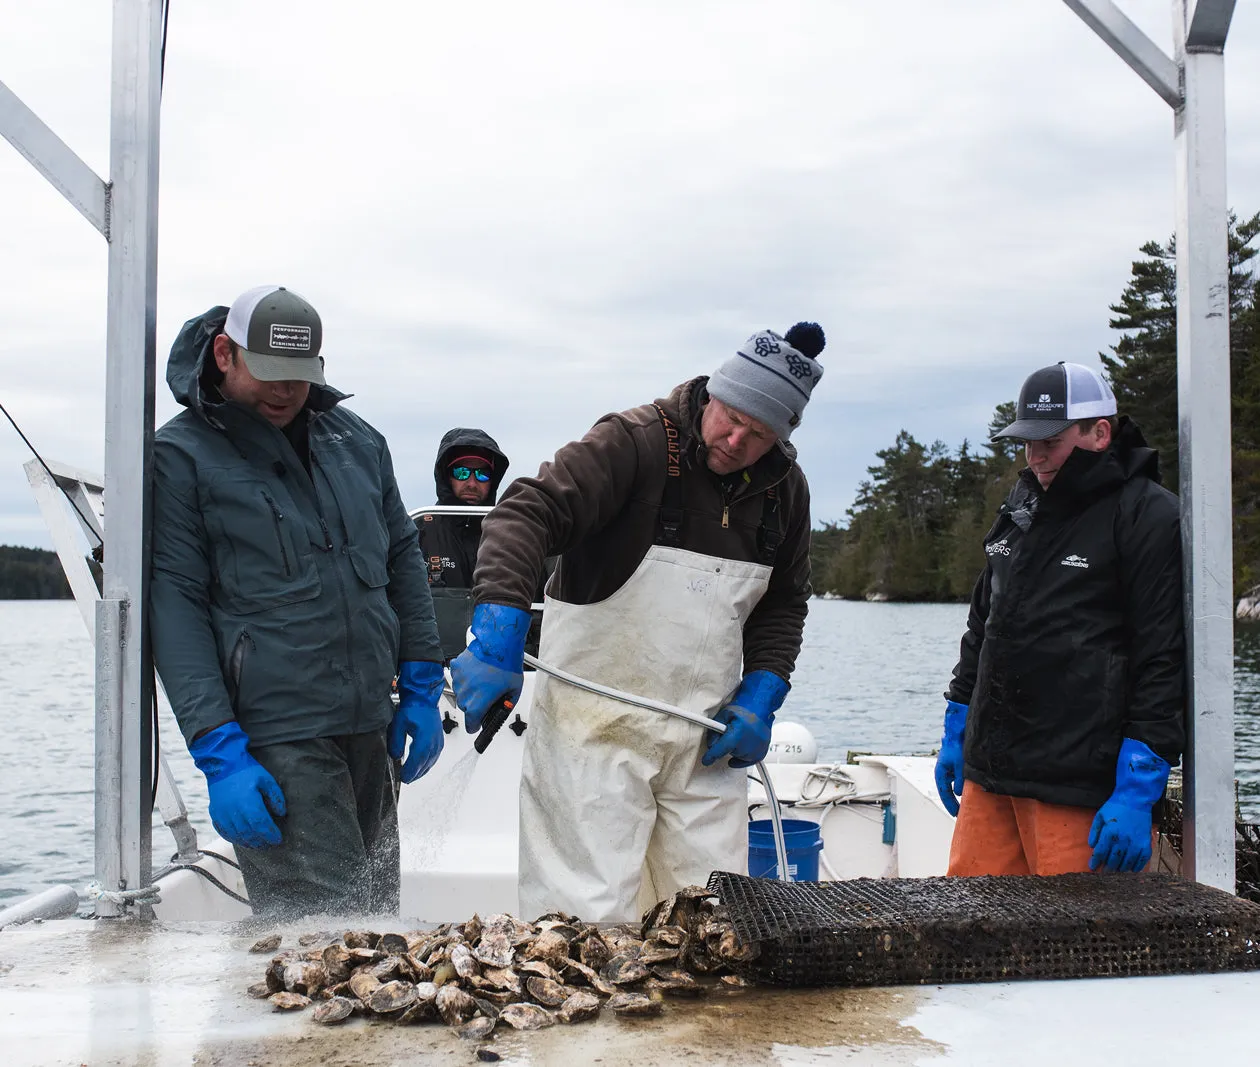
[[[0, 0], [0, 81], [108, 173], [110, 4]], [[1168, 0], [1124, 10], [1171, 50]], [[173, 0], [158, 421], [180, 324], [302, 294], [329, 380], [430, 503], [480, 426], [533, 472], [596, 418], [823, 324], [793, 440], [843, 519], [901, 428], [976, 442], [1096, 363], [1173, 229], [1172, 112], [1061, 0]], [[1260, 210], [1260, 3], [1226, 49], [1230, 202]], [[105, 242], [0, 142], [0, 402], [103, 455]], [[0, 542], [49, 543], [0, 423]]]

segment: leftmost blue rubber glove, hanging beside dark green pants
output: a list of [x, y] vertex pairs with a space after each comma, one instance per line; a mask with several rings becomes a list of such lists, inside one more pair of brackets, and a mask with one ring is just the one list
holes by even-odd
[[202, 734], [188, 751], [210, 789], [214, 829], [234, 845], [268, 848], [280, 844], [280, 826], [271, 816], [285, 814], [285, 795], [248, 746], [233, 719]]

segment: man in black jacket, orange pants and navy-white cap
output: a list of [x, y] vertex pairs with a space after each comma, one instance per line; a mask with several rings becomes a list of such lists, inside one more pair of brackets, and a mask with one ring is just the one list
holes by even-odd
[[1178, 501], [1090, 368], [1034, 372], [1017, 413], [995, 437], [1023, 441], [1028, 467], [984, 540], [945, 694], [948, 873], [1142, 870], [1184, 743]]

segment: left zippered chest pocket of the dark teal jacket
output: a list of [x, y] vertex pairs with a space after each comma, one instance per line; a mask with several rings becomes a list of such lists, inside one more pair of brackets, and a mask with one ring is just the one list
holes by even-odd
[[305, 523], [287, 496], [256, 479], [212, 482], [203, 508], [217, 600], [251, 613], [319, 596]]

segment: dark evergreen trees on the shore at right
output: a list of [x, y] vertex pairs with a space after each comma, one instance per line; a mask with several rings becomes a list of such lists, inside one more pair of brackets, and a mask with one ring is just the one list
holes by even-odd
[[[1260, 583], [1260, 214], [1230, 215], [1230, 383], [1234, 438], [1234, 590]], [[1121, 414], [1159, 450], [1163, 484], [1178, 490], [1177, 249], [1149, 241], [1110, 305], [1120, 339], [1100, 353]], [[1046, 363], [1074, 359], [1047, 353]], [[1028, 370], [1034, 368], [1029, 367]], [[876, 452], [843, 523], [813, 534], [814, 591], [847, 600], [965, 601], [984, 568], [984, 534], [1023, 466], [989, 435], [1014, 419], [998, 404], [980, 448], [925, 445], [902, 430]], [[979, 430], [979, 427], [976, 427]]]

